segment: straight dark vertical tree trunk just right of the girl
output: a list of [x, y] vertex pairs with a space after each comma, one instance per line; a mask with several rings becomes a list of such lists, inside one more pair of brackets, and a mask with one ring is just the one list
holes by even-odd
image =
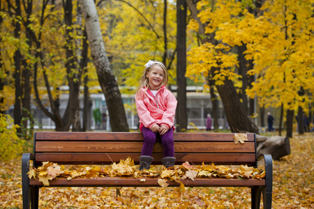
[[186, 116], [186, 1], [177, 1], [177, 132], [188, 127]]

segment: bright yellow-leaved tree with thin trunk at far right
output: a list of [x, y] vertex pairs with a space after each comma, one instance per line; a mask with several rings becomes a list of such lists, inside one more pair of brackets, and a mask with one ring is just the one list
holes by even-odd
[[[257, 75], [248, 95], [257, 95], [265, 107], [282, 106], [287, 111], [287, 137], [292, 137], [293, 110], [306, 107], [313, 93], [307, 85], [313, 82], [313, 56], [308, 54], [313, 50], [313, 5], [308, 1], [265, 1], [262, 10], [260, 17], [246, 13], [241, 22], [223, 24], [217, 34], [229, 45], [240, 41], [248, 45], [246, 59], [254, 59], [254, 68], [248, 73]], [[300, 95], [301, 88], [307, 94]]]

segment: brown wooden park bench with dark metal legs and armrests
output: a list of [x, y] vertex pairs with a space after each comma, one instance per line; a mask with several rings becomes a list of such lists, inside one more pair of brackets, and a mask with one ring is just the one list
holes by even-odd
[[[256, 154], [255, 134], [249, 133], [244, 144], [234, 143], [232, 133], [174, 133], [176, 164], [239, 165], [257, 167], [257, 160], [264, 159], [266, 177], [262, 180], [249, 178], [195, 178], [181, 180], [186, 187], [251, 187], [252, 208], [260, 208], [263, 194], [264, 208], [271, 208], [272, 159], [271, 155]], [[30, 160], [38, 167], [42, 162], [58, 164], [112, 164], [132, 157], [135, 164], [142, 150], [140, 132], [36, 132], [33, 154], [22, 155], [22, 195], [23, 208], [38, 208], [39, 189], [43, 183], [29, 179]], [[163, 146], [157, 141], [154, 146], [153, 164], [162, 164]], [[159, 187], [157, 178], [98, 177], [96, 179], [57, 178], [50, 181], [50, 187]], [[179, 187], [179, 183], [168, 180], [169, 187]]]

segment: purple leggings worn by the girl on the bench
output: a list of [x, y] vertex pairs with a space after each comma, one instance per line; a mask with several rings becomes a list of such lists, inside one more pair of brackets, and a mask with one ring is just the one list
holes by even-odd
[[144, 136], [142, 155], [151, 156], [156, 142], [156, 137], [159, 135], [163, 143], [163, 156], [174, 157], [173, 128], [170, 128], [170, 130], [168, 130], [165, 134], [160, 135], [158, 132], [155, 133], [147, 127], [142, 127], [142, 133]]

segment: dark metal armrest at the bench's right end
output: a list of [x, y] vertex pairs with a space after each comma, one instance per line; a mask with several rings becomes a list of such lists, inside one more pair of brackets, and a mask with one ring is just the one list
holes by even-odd
[[264, 159], [265, 168], [265, 186], [266, 193], [272, 193], [273, 190], [273, 158], [269, 154], [262, 154], [257, 157], [257, 161]]

